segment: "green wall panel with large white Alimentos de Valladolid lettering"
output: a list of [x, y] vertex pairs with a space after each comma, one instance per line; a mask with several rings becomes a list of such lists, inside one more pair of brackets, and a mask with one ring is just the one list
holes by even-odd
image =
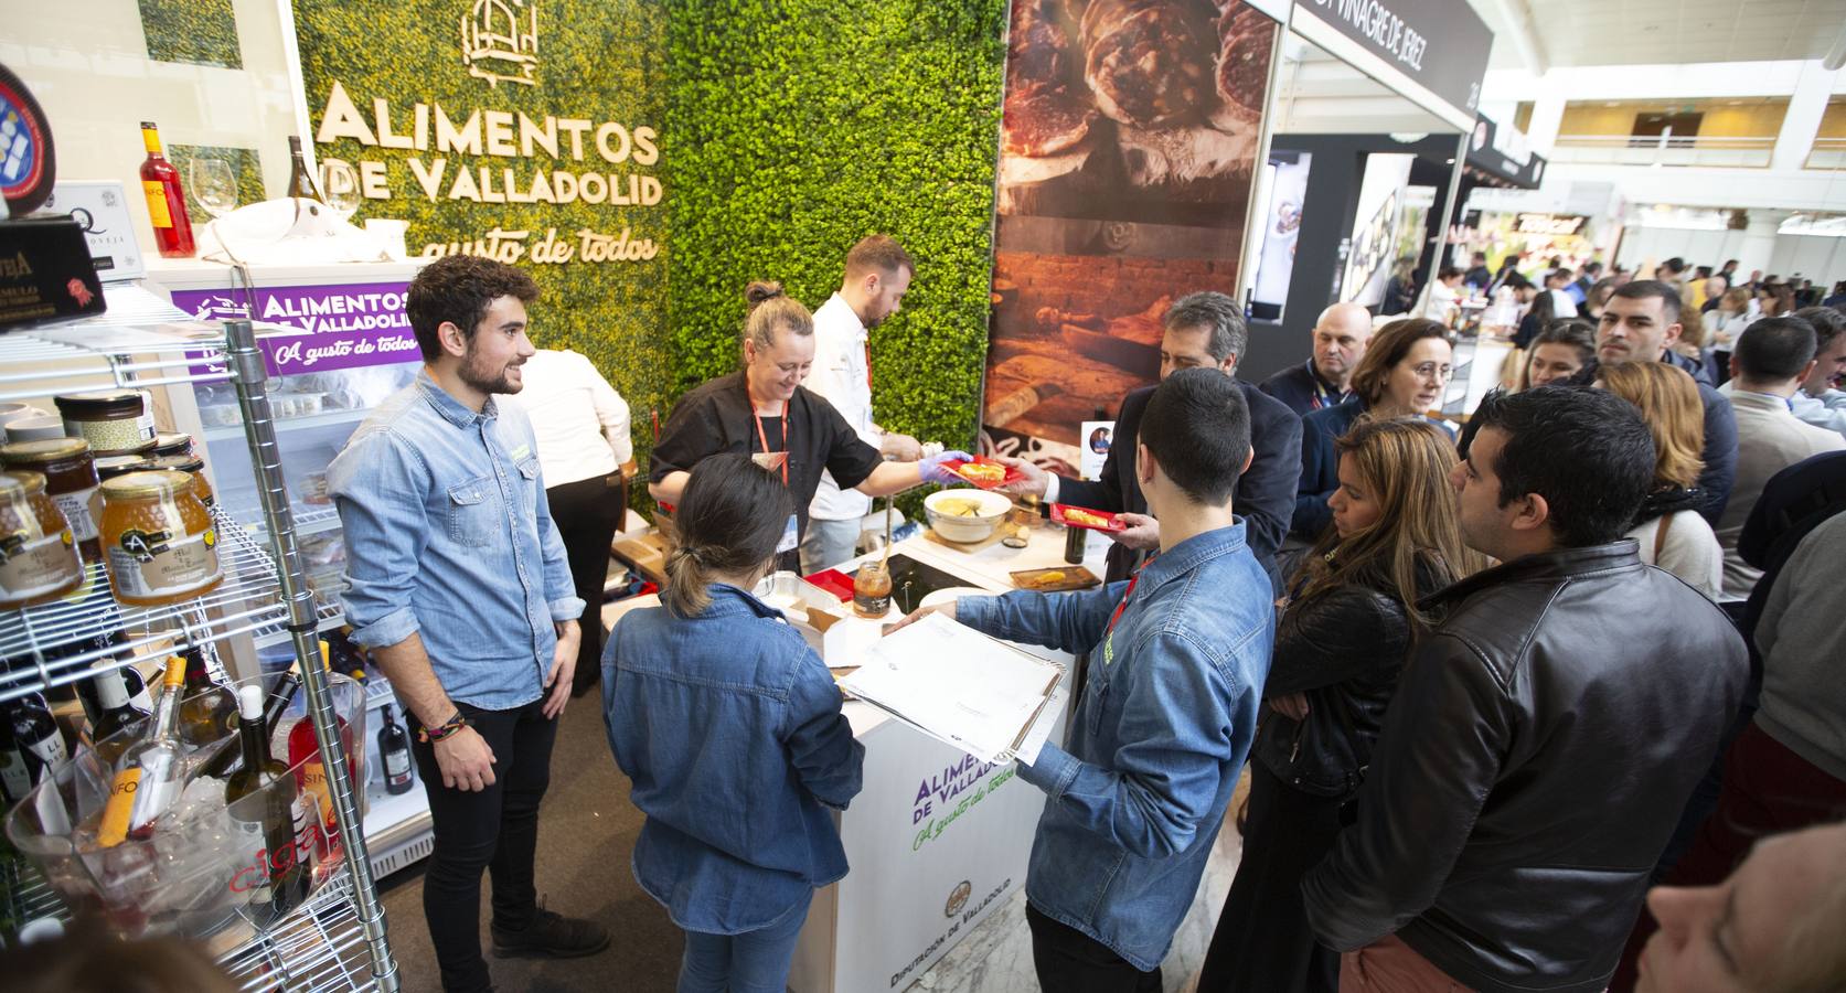
[[358, 190], [358, 221], [410, 221], [410, 255], [530, 271], [533, 341], [587, 354], [635, 410], [663, 406], [661, 6], [295, 0], [294, 15], [306, 138]]

